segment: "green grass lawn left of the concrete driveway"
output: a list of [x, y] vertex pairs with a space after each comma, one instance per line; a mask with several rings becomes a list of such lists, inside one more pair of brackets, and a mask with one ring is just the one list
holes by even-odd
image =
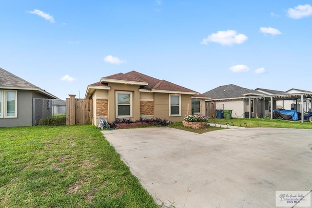
[[0, 207], [157, 208], [92, 125], [0, 128]]

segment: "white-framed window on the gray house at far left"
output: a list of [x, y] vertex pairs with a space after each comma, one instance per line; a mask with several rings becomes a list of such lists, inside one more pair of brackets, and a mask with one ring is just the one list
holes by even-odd
[[18, 93], [16, 90], [0, 90], [0, 118], [18, 117]]

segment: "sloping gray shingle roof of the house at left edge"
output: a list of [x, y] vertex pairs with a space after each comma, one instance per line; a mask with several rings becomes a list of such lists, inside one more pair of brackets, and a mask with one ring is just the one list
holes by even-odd
[[13, 75], [2, 68], [0, 68], [0, 89], [34, 90], [52, 98], [57, 98], [36, 85], [33, 85], [32, 83], [20, 78], [19, 76]]

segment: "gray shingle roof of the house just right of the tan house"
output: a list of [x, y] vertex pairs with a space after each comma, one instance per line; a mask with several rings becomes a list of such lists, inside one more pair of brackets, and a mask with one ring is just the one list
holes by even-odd
[[247, 95], [263, 95], [258, 91], [243, 88], [234, 84], [219, 86], [203, 94], [211, 97], [211, 99], [248, 97]]

